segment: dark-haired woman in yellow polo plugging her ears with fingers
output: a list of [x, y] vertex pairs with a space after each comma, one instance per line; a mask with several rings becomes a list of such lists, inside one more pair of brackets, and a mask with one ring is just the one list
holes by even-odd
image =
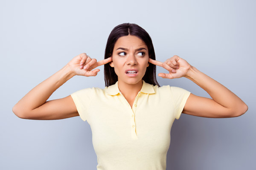
[[[100, 65], [104, 65], [104, 89], [86, 88], [65, 98], [47, 101], [73, 76], [96, 76]], [[158, 76], [186, 77], [207, 91], [212, 99], [182, 88], [160, 87], [156, 65], [169, 72]], [[13, 108], [23, 119], [80, 116], [87, 120], [93, 134], [98, 170], [165, 170], [170, 130], [181, 113], [224, 118], [240, 116], [246, 111], [247, 105], [238, 96], [186, 60], [173, 56], [165, 62], [156, 61], [148, 33], [130, 23], [111, 31], [104, 60], [97, 62], [85, 53], [74, 57]]]

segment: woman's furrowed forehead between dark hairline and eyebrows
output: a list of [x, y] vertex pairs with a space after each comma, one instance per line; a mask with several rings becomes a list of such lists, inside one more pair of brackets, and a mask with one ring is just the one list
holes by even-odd
[[123, 47], [123, 48], [137, 48], [137, 47], [144, 47], [147, 48], [147, 45], [143, 40], [140, 38], [134, 36], [134, 35], [128, 35], [120, 37], [114, 46], [114, 49]]

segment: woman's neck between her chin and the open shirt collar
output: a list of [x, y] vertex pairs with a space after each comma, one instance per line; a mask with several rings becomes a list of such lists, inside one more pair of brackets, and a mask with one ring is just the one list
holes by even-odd
[[142, 79], [134, 85], [118, 82], [118, 88], [125, 97], [137, 96], [142, 88]]

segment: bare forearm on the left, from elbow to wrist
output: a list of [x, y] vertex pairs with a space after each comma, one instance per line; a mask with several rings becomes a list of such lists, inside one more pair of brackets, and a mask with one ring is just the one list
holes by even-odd
[[73, 76], [70, 68], [67, 65], [64, 66], [61, 70], [41, 82], [20, 99], [13, 108], [14, 113], [31, 111], [43, 105], [56, 89]]

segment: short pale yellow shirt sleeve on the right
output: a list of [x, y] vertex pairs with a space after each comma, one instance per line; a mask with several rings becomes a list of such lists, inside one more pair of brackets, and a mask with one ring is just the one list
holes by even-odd
[[183, 111], [183, 108], [186, 104], [187, 99], [189, 98], [190, 92], [178, 87], [170, 87], [172, 100], [175, 105], [175, 113], [176, 119], [180, 118], [181, 112]]

